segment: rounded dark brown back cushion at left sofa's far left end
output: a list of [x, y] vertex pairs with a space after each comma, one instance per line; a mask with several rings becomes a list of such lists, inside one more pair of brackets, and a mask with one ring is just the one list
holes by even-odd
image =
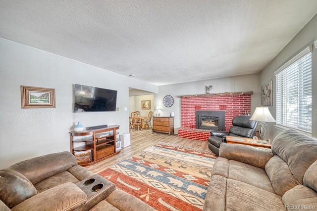
[[33, 184], [21, 173], [13, 169], [0, 170], [0, 199], [13, 208], [37, 194]]

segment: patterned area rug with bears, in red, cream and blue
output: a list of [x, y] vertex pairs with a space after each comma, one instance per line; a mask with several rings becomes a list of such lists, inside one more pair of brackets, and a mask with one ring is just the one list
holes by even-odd
[[99, 174], [158, 211], [199, 211], [216, 157], [210, 151], [159, 143]]

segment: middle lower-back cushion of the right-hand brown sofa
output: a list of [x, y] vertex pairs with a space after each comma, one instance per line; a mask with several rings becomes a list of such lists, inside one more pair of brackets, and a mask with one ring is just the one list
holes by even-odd
[[286, 191], [298, 185], [288, 165], [278, 155], [273, 156], [265, 165], [276, 194], [283, 196]]

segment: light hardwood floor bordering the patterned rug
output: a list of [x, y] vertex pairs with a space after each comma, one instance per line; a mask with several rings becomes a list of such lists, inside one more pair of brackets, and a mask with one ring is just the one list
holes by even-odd
[[104, 161], [101, 161], [92, 166], [86, 167], [94, 173], [99, 173], [102, 170], [105, 170], [116, 163], [123, 161], [129, 157], [132, 157], [136, 153], [153, 146], [159, 142], [177, 144], [186, 147], [193, 147], [196, 149], [209, 150], [207, 141], [198, 141], [188, 138], [179, 138], [177, 134], [168, 135], [166, 133], [152, 132], [150, 129], [130, 129], [131, 135], [131, 145], [125, 148], [121, 148], [120, 153], [115, 156], [112, 156]]

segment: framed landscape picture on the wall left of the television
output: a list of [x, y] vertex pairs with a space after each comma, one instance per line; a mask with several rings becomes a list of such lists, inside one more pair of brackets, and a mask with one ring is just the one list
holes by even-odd
[[22, 108], [55, 108], [55, 89], [21, 85]]

